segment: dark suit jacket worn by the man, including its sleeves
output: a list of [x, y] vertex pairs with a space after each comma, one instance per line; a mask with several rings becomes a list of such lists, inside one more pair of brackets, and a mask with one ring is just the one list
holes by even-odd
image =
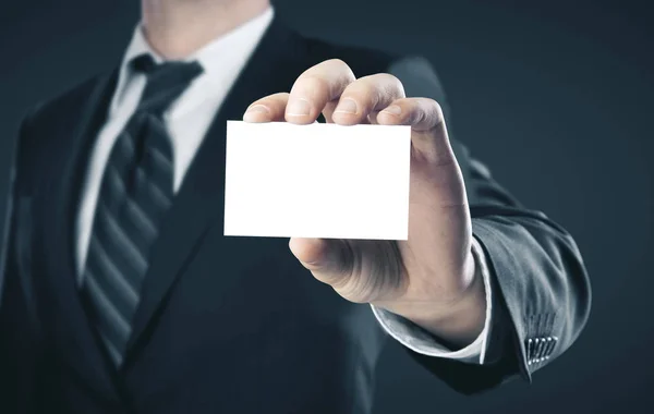
[[[217, 114], [161, 230], [120, 372], [85, 316], [73, 234], [89, 148], [117, 71], [27, 117], [0, 261], [0, 412], [371, 412], [385, 334], [370, 307], [316, 282], [286, 239], [222, 235], [226, 121], [241, 119], [259, 97], [290, 90], [304, 70], [330, 58], [358, 76], [395, 73], [409, 96], [445, 104], [424, 60], [310, 40], [276, 20]], [[488, 364], [407, 352], [470, 393], [512, 376], [530, 379], [564, 352], [588, 318], [590, 287], [570, 235], [521, 207], [464, 147], [455, 147], [473, 232], [493, 273]], [[557, 340], [536, 345], [548, 337]]]

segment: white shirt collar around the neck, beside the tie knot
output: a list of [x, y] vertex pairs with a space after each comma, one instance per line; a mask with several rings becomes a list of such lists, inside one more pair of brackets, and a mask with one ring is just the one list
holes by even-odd
[[[275, 10], [272, 7], [269, 7], [264, 13], [207, 44], [202, 49], [184, 59], [184, 61], [197, 60], [204, 69], [203, 76], [213, 77], [225, 69], [226, 57], [229, 59], [229, 57], [232, 57], [235, 52], [247, 53], [246, 48], [243, 50], [244, 44], [253, 44], [252, 46], [254, 48], [261, 36], [270, 25], [274, 16]], [[140, 23], [134, 29], [132, 40], [125, 50], [120, 65], [118, 84], [111, 102], [111, 113], [114, 113], [122, 104], [128, 83], [134, 75], [130, 62], [143, 53], [152, 54], [158, 63], [164, 61], [164, 59], [149, 46]]]

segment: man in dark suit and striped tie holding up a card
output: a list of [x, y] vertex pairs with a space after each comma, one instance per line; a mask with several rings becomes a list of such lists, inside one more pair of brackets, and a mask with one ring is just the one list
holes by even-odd
[[[465, 393], [576, 340], [574, 242], [448, 137], [424, 61], [302, 38], [267, 0], [142, 5], [120, 66], [21, 129], [1, 412], [370, 413], [386, 336]], [[225, 238], [227, 120], [320, 114], [412, 126], [409, 240]]]

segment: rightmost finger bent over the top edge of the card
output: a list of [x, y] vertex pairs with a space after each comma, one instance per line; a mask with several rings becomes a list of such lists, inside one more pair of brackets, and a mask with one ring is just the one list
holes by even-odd
[[377, 114], [380, 125], [411, 125], [411, 144], [432, 165], [456, 161], [443, 109], [434, 99], [401, 98]]

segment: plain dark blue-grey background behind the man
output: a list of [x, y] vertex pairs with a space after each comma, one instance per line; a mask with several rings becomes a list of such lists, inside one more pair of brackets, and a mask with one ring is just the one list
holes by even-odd
[[[304, 34], [428, 57], [459, 139], [576, 235], [593, 281], [585, 331], [533, 386], [458, 395], [393, 343], [377, 414], [652, 410], [653, 14], [647, 2], [524, 3], [276, 1]], [[25, 110], [116, 64], [137, 12], [137, 0], [2, 0], [0, 194]]]

